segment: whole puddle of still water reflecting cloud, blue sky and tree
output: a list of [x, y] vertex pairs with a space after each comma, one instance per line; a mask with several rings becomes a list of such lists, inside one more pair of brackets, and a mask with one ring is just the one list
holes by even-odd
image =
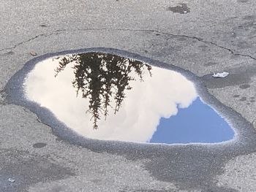
[[186, 77], [105, 53], [48, 58], [24, 82], [37, 102], [91, 139], [152, 143], [223, 142], [234, 132]]

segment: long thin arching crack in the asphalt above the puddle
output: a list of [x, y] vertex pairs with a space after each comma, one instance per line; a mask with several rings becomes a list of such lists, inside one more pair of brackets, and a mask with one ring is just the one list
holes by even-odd
[[162, 31], [158, 31], [158, 30], [154, 30], [154, 29], [130, 29], [130, 28], [75, 28], [75, 29], [71, 29], [71, 30], [59, 29], [59, 30], [53, 31], [50, 34], [39, 34], [39, 35], [37, 35], [35, 37], [32, 37], [31, 39], [27, 39], [26, 41], [19, 42], [18, 44], [14, 45], [12, 47], [3, 48], [3, 49], [0, 50], [0, 52], [2, 52], [4, 50], [15, 49], [16, 47], [18, 47], [20, 45], [23, 45], [26, 42], [31, 42], [32, 40], [37, 39], [39, 37], [49, 37], [49, 36], [51, 36], [53, 34], [61, 34], [61, 32], [63, 32], [63, 31], [104, 31], [104, 30], [105, 31], [144, 31], [144, 32], [148, 31], [148, 32], [153, 32], [153, 33], [158, 33], [158, 34], [170, 35], [170, 36], [173, 36], [173, 37], [185, 37], [187, 39], [196, 39], [197, 41], [203, 42], [203, 43], [205, 43], [207, 45], [214, 45], [215, 47], [219, 47], [219, 48], [221, 48], [223, 50], [227, 50], [228, 52], [230, 52], [233, 55], [239, 55], [239, 56], [251, 58], [251, 59], [256, 61], [256, 58], [253, 57], [252, 55], [236, 53], [236, 50], [232, 50], [232, 49], [224, 47], [222, 45], [217, 45], [217, 43], [207, 41], [207, 40], [202, 39], [200, 37], [193, 37], [193, 36], [182, 35], [182, 34], [170, 34], [170, 33], [167, 33], [167, 32], [162, 32]]

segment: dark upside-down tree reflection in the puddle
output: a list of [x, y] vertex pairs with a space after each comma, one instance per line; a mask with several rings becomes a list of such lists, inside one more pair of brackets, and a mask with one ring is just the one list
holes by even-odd
[[56, 76], [64, 70], [67, 64], [75, 62], [72, 67], [75, 73], [75, 80], [72, 85], [83, 98], [89, 99], [89, 110], [94, 119], [94, 129], [97, 129], [97, 120], [100, 112], [105, 118], [108, 115], [108, 107], [113, 99], [116, 103], [114, 113], [118, 112], [121, 103], [125, 98], [124, 90], [129, 90], [129, 81], [135, 80], [133, 74], [138, 74], [143, 80], [144, 67], [151, 75], [151, 66], [135, 61], [132, 58], [123, 58], [105, 53], [80, 53], [77, 55], [67, 55], [59, 60], [56, 69]]

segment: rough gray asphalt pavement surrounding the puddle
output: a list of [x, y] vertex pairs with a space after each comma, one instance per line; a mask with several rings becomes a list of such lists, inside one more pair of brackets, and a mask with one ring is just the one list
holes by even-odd
[[[253, 0], [1, 1], [0, 191], [256, 191], [255, 9]], [[240, 140], [150, 147], [70, 139], [9, 102], [7, 82], [31, 51], [90, 47], [184, 69]], [[211, 78], [223, 71], [230, 75]]]

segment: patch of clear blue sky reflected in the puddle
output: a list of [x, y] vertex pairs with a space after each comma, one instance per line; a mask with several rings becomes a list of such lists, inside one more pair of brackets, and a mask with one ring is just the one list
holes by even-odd
[[233, 129], [199, 97], [171, 118], [161, 118], [150, 142], [222, 142], [232, 139]]

